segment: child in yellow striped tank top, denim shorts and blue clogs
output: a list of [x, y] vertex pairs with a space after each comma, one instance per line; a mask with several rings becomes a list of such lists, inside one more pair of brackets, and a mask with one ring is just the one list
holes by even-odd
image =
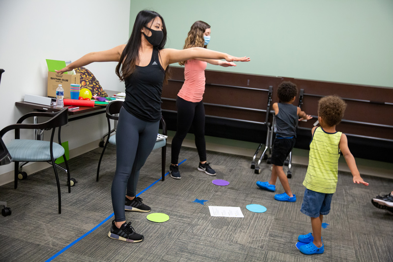
[[336, 131], [336, 125], [341, 121], [345, 108], [345, 102], [338, 96], [326, 96], [318, 102], [320, 127], [315, 126], [311, 130], [309, 167], [303, 182], [306, 190], [300, 209], [311, 218], [312, 233], [298, 237], [299, 242], [306, 243], [299, 247], [306, 255], [324, 252], [322, 220], [324, 215], [329, 214], [333, 193], [336, 192], [340, 152], [353, 175], [353, 182], [368, 186], [360, 176], [355, 158], [349, 151], [347, 137]]

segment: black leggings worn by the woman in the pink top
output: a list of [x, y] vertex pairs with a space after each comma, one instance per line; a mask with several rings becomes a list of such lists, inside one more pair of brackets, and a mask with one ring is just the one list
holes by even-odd
[[197, 146], [199, 161], [206, 161], [205, 142], [205, 108], [203, 102], [189, 102], [181, 97], [176, 99], [177, 107], [177, 129], [172, 139], [171, 163], [178, 164], [181, 144], [190, 130], [194, 127], [195, 145]]

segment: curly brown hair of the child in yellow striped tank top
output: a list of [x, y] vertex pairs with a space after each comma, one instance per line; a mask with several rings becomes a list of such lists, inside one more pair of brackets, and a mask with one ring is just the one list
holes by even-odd
[[319, 99], [318, 116], [322, 117], [327, 125], [334, 126], [341, 122], [346, 107], [347, 104], [337, 95], [325, 96]]

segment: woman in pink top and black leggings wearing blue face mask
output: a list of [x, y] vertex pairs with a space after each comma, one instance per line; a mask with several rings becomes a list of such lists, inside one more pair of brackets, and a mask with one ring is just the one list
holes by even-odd
[[[192, 25], [186, 38], [184, 48], [204, 47], [210, 41], [210, 26], [197, 21]], [[233, 62], [215, 59], [190, 59], [179, 62], [185, 65], [184, 84], [177, 94], [177, 129], [172, 139], [172, 157], [169, 167], [169, 174], [172, 178], [180, 179], [178, 158], [181, 144], [190, 130], [191, 124], [194, 127], [195, 145], [199, 155], [198, 170], [207, 175], [216, 175], [216, 172], [206, 162], [206, 143], [205, 143], [205, 109], [203, 107], [203, 93], [205, 91], [205, 69], [207, 63], [227, 66], [236, 66]]]

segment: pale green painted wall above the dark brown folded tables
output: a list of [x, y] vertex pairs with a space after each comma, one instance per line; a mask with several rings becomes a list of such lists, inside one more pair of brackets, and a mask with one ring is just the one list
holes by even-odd
[[392, 0], [131, 0], [130, 30], [142, 9], [164, 17], [167, 48], [202, 20], [209, 49], [251, 57], [207, 69], [393, 87]]

